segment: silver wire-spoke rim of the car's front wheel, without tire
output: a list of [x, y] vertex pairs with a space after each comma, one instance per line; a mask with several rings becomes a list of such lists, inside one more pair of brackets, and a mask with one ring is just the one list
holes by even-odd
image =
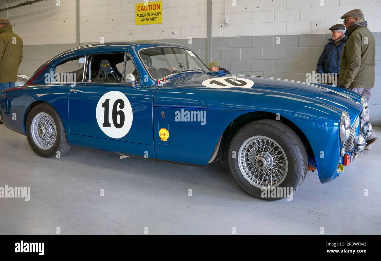
[[242, 143], [237, 158], [241, 174], [257, 188], [277, 187], [286, 178], [286, 154], [269, 137], [258, 135], [248, 138]]

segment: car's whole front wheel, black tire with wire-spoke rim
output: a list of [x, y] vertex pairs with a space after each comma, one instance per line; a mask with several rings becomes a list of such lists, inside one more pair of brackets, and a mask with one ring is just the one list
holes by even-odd
[[243, 191], [259, 199], [290, 196], [306, 177], [307, 160], [299, 136], [275, 120], [243, 126], [229, 146], [229, 168], [235, 181]]

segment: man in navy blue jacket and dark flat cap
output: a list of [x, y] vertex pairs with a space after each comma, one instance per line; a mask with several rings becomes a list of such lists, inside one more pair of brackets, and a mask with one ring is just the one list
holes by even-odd
[[[345, 33], [345, 26], [342, 24], [335, 24], [328, 29], [331, 31], [332, 38], [328, 39], [327, 45], [325, 45], [323, 53], [319, 57], [317, 62], [317, 73], [333, 73], [337, 75], [340, 70], [340, 57], [341, 50], [344, 43], [347, 40]], [[328, 79], [325, 83], [331, 84], [333, 79]]]

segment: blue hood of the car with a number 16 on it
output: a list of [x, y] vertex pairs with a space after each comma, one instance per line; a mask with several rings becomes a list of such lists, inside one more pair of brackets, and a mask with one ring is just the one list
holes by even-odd
[[[232, 75], [224, 75], [222, 77], [229, 76]], [[312, 103], [323, 103], [326, 106], [334, 110], [337, 110], [338, 112], [341, 112], [343, 110], [347, 111], [351, 115], [352, 122], [357, 117], [357, 115], [359, 115], [359, 112], [362, 110], [362, 106], [360, 105], [361, 96], [345, 88], [332, 87], [326, 84], [317, 85], [286, 79], [267, 78], [262, 76], [235, 76], [239, 78], [245, 78], [254, 82], [251, 88], [229, 88], [234, 89], [235, 93], [252, 92], [253, 94], [266, 94], [267, 96], [282, 96], [285, 97], [285, 99], [288, 99], [290, 102], [292, 102], [292, 100], [304, 100]], [[207, 88], [203, 85], [203, 81], [208, 79], [213, 80], [215, 78], [219, 77], [212, 73], [180, 75], [178, 77], [168, 78], [167, 80], [169, 80], [169, 82], [166, 83], [166, 86]], [[218, 94], [218, 92], [223, 92], [223, 90], [226, 90], [215, 88], [210, 89], [215, 91], [216, 95], [221, 95]], [[231, 92], [226, 92], [226, 94], [231, 95]]]

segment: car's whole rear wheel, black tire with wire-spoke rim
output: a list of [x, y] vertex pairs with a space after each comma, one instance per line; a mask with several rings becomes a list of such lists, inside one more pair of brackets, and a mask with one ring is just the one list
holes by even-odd
[[30, 148], [38, 156], [52, 158], [71, 147], [58, 112], [48, 103], [40, 103], [30, 110], [25, 128]]

